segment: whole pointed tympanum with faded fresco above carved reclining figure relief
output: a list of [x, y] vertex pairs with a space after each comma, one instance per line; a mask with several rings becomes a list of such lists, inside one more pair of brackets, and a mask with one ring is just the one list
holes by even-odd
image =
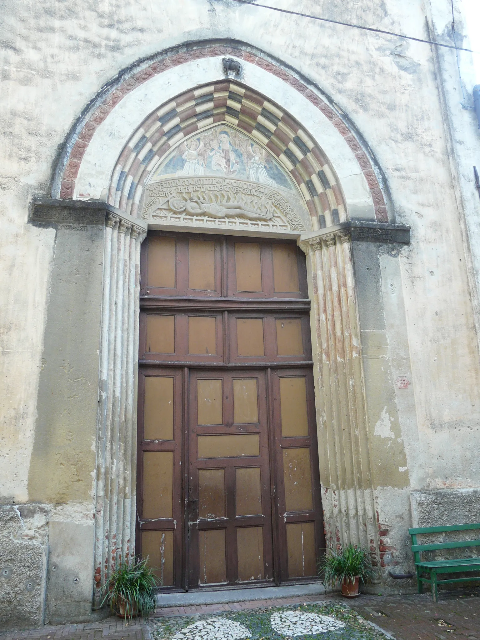
[[310, 230], [310, 216], [280, 163], [223, 123], [188, 138], [152, 173], [142, 218], [168, 225]]

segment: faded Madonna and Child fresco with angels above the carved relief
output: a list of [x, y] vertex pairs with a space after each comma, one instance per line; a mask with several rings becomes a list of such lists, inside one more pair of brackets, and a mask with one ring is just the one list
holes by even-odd
[[223, 124], [179, 145], [156, 170], [152, 182], [166, 177], [204, 175], [250, 180], [292, 191], [276, 160], [241, 132]]

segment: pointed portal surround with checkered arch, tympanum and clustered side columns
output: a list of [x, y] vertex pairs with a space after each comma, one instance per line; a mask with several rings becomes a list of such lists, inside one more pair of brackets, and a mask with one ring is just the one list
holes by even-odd
[[[238, 61], [239, 74], [224, 71], [225, 55]], [[191, 45], [188, 51], [172, 50], [143, 61], [109, 84], [72, 129], [56, 170], [52, 199], [35, 202], [31, 221], [54, 225], [57, 238], [61, 239], [61, 234], [75, 232], [79, 225], [85, 229], [94, 227], [100, 233], [99, 221], [105, 219], [100, 234], [104, 250], [93, 561], [96, 602], [111, 569], [134, 552], [135, 529], [140, 521], [135, 506], [137, 474], [143, 474], [136, 466], [140, 456], [136, 447], [139, 332], [141, 375], [145, 378], [145, 353], [154, 351], [145, 348], [148, 312], [157, 319], [171, 318], [164, 320], [164, 339], [168, 323], [184, 322], [174, 319], [177, 311], [188, 316], [187, 303], [179, 300], [187, 295], [190, 285], [185, 284], [180, 292], [175, 278], [180, 277], [181, 247], [186, 242], [182, 238], [195, 236], [179, 236], [179, 232], [197, 234], [200, 244], [195, 245], [195, 250], [204, 252], [204, 257], [211, 252], [211, 291], [208, 295], [195, 295], [200, 300], [196, 302], [198, 317], [205, 320], [217, 314], [217, 330], [218, 323], [227, 322], [234, 307], [241, 316], [242, 309], [246, 313], [248, 305], [253, 305], [246, 299], [242, 302], [238, 292], [228, 294], [228, 278], [233, 273], [227, 273], [228, 264], [240, 269], [230, 236], [244, 237], [243, 244], [239, 244], [245, 255], [251, 253], [249, 260], [254, 260], [256, 249], [252, 247], [260, 247], [259, 251], [264, 252], [259, 258], [262, 269], [280, 251], [277, 246], [288, 248], [296, 243], [306, 255], [305, 295], [289, 294], [295, 303], [285, 294], [276, 294], [275, 287], [269, 295], [262, 292], [261, 286], [252, 289], [250, 285], [245, 291], [251, 292], [249, 300], [258, 301], [259, 296], [267, 300], [271, 322], [273, 310], [277, 316], [280, 313], [287, 317], [288, 305], [296, 305], [290, 313], [298, 315], [302, 331], [308, 326], [311, 305], [310, 330], [302, 335], [311, 344], [308, 366], [312, 367], [315, 386], [314, 436], [318, 442], [326, 545], [332, 547], [350, 540], [362, 543], [371, 548], [374, 563], [379, 561], [353, 241], [408, 242], [408, 228], [388, 222], [387, 192], [380, 188], [379, 178], [383, 183], [369, 148], [326, 95], [285, 65], [241, 44]], [[140, 270], [145, 271], [147, 264], [147, 253], [141, 264], [140, 247], [147, 232], [143, 251], [150, 252], [151, 257], [156, 250], [152, 247], [162, 246], [166, 252], [156, 258], [158, 273], [166, 273], [173, 264], [173, 284], [158, 287], [157, 283], [155, 291], [155, 287], [147, 286], [155, 283], [148, 282], [146, 272], [140, 281]], [[199, 233], [206, 235], [198, 236]], [[258, 240], [253, 241], [254, 238]], [[161, 239], [166, 243], [162, 244]], [[176, 248], [172, 250], [173, 245]], [[269, 248], [265, 248], [267, 245]], [[168, 259], [161, 257], [168, 251], [175, 256], [170, 267]], [[175, 260], [180, 261], [177, 268]], [[301, 271], [305, 257], [299, 260]], [[200, 266], [206, 273], [205, 264]], [[207, 277], [205, 273], [202, 277]], [[182, 277], [188, 280], [189, 276]], [[267, 282], [270, 276], [261, 277]], [[168, 306], [171, 301], [166, 303], [168, 296], [176, 297], [177, 311]], [[210, 306], [205, 303], [206, 298], [211, 299]], [[223, 298], [232, 298], [228, 303], [231, 308], [221, 307], [218, 300]], [[143, 320], [141, 314], [145, 316]], [[200, 333], [209, 331], [207, 324], [198, 329]], [[179, 326], [175, 324], [175, 332], [180, 331]], [[222, 326], [225, 345], [228, 330], [225, 323]], [[233, 330], [231, 323], [228, 326]], [[173, 353], [169, 358], [177, 369], [172, 375], [175, 380], [178, 378], [180, 387], [186, 384], [182, 378], [189, 357], [186, 349], [183, 359], [177, 360], [175, 348], [163, 349], [163, 353]], [[211, 355], [211, 351], [207, 353]], [[274, 356], [282, 357], [280, 352]], [[168, 358], [164, 356], [158, 360], [164, 366], [172, 364], [166, 363]], [[220, 360], [215, 361], [217, 366]], [[260, 360], [255, 356], [249, 366], [255, 362], [260, 366]], [[184, 369], [179, 369], [182, 362]], [[221, 374], [225, 380], [218, 374], [218, 380], [227, 387], [235, 383], [228, 378], [228, 371], [227, 367]], [[272, 375], [275, 377], [275, 371]], [[269, 384], [262, 376], [264, 373], [259, 374], [256, 384]], [[197, 378], [202, 379], [202, 372]], [[141, 402], [147, 393], [145, 388], [141, 387]], [[196, 393], [197, 390], [191, 391], [191, 402], [198, 400]], [[183, 412], [183, 419], [188, 422], [188, 405], [183, 406], [180, 414]], [[139, 407], [143, 412], [141, 403]], [[261, 410], [275, 413], [275, 408], [267, 405]], [[177, 417], [181, 432], [185, 422], [180, 414]], [[188, 433], [184, 433], [186, 436]], [[168, 446], [161, 446], [164, 449], [160, 447], [158, 451], [170, 451]], [[164, 456], [164, 460], [167, 458]], [[141, 456], [138, 459], [143, 460]], [[157, 469], [158, 478], [165, 468], [166, 463]], [[250, 481], [255, 481], [254, 476], [252, 472]], [[182, 479], [181, 474], [178, 477], [170, 499], [181, 499], [186, 505], [188, 478]], [[156, 514], [147, 519], [159, 517]], [[182, 526], [175, 521], [178, 531]], [[252, 533], [252, 527], [244, 528], [249, 533], [237, 540], [244, 549], [253, 544], [257, 535]], [[188, 544], [188, 531], [179, 536]], [[210, 543], [215, 540], [212, 536]], [[168, 547], [170, 538], [163, 543]]]

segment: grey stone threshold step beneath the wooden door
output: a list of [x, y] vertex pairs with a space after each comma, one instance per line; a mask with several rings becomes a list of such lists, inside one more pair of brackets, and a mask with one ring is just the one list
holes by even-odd
[[227, 602], [250, 602], [252, 600], [275, 600], [301, 596], [326, 595], [321, 582], [289, 584], [280, 587], [253, 587], [246, 589], [221, 589], [219, 591], [195, 590], [185, 593], [159, 593], [157, 608], [190, 607], [193, 605], [223, 604]]

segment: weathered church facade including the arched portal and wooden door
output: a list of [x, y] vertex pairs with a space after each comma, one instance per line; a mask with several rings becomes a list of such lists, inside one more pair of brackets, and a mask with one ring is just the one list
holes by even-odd
[[134, 556], [238, 588], [352, 542], [413, 589], [408, 527], [478, 522], [462, 6], [276, 4], [7, 11], [5, 627]]

